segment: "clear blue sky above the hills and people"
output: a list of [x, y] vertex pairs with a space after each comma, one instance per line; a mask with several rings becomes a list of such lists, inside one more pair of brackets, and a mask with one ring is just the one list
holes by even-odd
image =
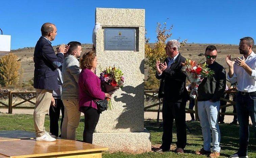
[[150, 43], [155, 43], [158, 22], [173, 25], [168, 40], [238, 45], [242, 37], [256, 39], [255, 0], [7, 0], [0, 8], [0, 28], [11, 35], [11, 50], [34, 47], [46, 22], [57, 27], [52, 45], [91, 44], [96, 8], [145, 9]]

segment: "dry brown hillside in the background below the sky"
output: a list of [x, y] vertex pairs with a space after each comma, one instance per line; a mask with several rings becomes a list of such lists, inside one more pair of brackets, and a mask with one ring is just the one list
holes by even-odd
[[[237, 41], [239, 42], [239, 40]], [[151, 48], [154, 46], [154, 43], [151, 43]], [[191, 60], [195, 60], [198, 63], [205, 61], [205, 56], [200, 55], [204, 54], [205, 48], [210, 44], [200, 44], [200, 43], [186, 43], [184, 46], [180, 48], [180, 53]], [[228, 54], [231, 54], [232, 57], [240, 57], [238, 45], [234, 44], [213, 44], [216, 46], [218, 55], [216, 58], [216, 61], [224, 66], [224, 68], [227, 70], [227, 64], [226, 64], [226, 56]], [[53, 46], [55, 49], [57, 46]], [[89, 50], [92, 50], [92, 44], [82, 44], [82, 52], [88, 52]], [[24, 69], [24, 76], [23, 78], [26, 81], [29, 81], [33, 77], [34, 73], [34, 62], [33, 62], [33, 53], [34, 48], [33, 47], [27, 47], [23, 49], [18, 50], [11, 50], [11, 53], [18, 56], [18, 58], [21, 60], [22, 68]], [[83, 54], [82, 53], [82, 54]], [[145, 65], [145, 78], [147, 78], [148, 75], [148, 69], [149, 67]]]

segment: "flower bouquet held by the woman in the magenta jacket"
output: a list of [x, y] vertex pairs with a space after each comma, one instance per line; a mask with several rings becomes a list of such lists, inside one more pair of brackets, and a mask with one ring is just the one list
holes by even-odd
[[[106, 67], [105, 70], [101, 71], [102, 72], [100, 73], [100, 80], [106, 93], [112, 95], [119, 88], [123, 88], [124, 76], [119, 68], [116, 68], [115, 66], [109, 66]], [[108, 99], [108, 109], [113, 109], [111, 99]]]

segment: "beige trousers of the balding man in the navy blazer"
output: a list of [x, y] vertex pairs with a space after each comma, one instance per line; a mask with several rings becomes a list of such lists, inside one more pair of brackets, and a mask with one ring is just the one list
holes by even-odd
[[48, 113], [52, 100], [52, 90], [36, 89], [36, 101], [34, 109], [35, 136], [40, 137], [45, 134], [45, 115]]

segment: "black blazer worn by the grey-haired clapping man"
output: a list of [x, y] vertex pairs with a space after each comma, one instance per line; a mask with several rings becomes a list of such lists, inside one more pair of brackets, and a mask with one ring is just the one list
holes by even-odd
[[[189, 95], [186, 89], [186, 74], [181, 71], [182, 63], [185, 63], [185, 58], [179, 53], [178, 57], [167, 69], [159, 76], [156, 72], [156, 78], [161, 79], [158, 91], [158, 98], [167, 99], [169, 101], [187, 101]], [[166, 58], [164, 62], [169, 60]]]

